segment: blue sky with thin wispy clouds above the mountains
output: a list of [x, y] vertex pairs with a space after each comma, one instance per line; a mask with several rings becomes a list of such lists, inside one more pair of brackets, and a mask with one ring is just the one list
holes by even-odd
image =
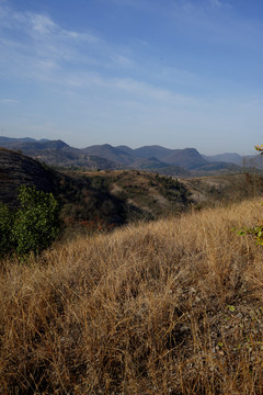
[[262, 0], [0, 0], [0, 135], [254, 153]]

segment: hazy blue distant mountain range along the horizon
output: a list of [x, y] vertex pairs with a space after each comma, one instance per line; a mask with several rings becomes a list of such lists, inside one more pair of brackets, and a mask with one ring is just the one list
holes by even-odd
[[110, 144], [85, 148], [62, 140], [0, 136], [0, 147], [21, 151], [49, 166], [90, 169], [138, 169], [168, 176], [192, 177], [239, 171], [244, 159], [238, 154], [201, 155], [195, 148], [171, 149], [158, 145], [130, 148]]

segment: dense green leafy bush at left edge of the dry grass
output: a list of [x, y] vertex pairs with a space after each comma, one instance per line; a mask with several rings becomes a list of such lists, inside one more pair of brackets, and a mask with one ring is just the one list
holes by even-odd
[[41, 252], [59, 233], [58, 203], [52, 193], [22, 185], [19, 201], [21, 208], [15, 213], [7, 205], [0, 206], [1, 255]]

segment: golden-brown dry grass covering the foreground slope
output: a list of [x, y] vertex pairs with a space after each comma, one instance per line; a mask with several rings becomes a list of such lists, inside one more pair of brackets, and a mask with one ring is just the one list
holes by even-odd
[[1, 394], [262, 394], [251, 201], [2, 262]]

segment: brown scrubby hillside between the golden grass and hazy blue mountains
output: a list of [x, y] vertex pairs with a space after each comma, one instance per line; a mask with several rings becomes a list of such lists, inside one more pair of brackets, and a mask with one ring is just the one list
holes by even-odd
[[[157, 163], [153, 158], [152, 161]], [[258, 174], [190, 178], [186, 170], [174, 168], [175, 174], [181, 172], [182, 178], [139, 170], [56, 171], [2, 148], [0, 202], [15, 207], [19, 187], [35, 185], [54, 193], [61, 206], [61, 218], [68, 226], [83, 225], [89, 229], [152, 221], [180, 214], [192, 206], [238, 202], [263, 193], [263, 179]]]

